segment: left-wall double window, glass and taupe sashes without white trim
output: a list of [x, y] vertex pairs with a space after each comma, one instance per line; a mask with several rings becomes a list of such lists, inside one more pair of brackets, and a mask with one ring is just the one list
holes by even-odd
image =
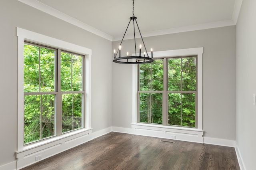
[[83, 55], [24, 43], [24, 144], [84, 127], [83, 67]]

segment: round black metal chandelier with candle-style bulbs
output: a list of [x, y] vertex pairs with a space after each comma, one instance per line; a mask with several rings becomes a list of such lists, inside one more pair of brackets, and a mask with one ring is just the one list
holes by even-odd
[[[151, 57], [150, 57], [150, 56], [148, 55], [148, 51], [147, 51], [147, 49], [146, 49], [145, 43], [144, 43], [144, 41], [143, 41], [143, 38], [142, 38], [142, 36], [141, 36], [140, 28], [139, 28], [139, 26], [138, 26], [138, 23], [137, 23], [136, 19], [137, 19], [137, 17], [134, 16], [134, 0], [132, 0], [132, 17], [130, 17], [130, 22], [133, 20], [135, 56], [129, 56], [129, 53], [127, 52], [127, 55], [126, 55], [126, 56], [121, 57], [121, 45], [122, 45], [122, 42], [123, 42], [123, 40], [124, 40], [124, 36], [125, 36], [125, 34], [126, 34], [126, 32], [127, 32], [127, 29], [128, 29], [128, 27], [129, 27], [129, 25], [130, 25], [130, 22], [129, 22], [129, 24], [128, 24], [127, 28], [126, 28], [126, 31], [125, 31], [125, 33], [124, 33], [124, 36], [123, 36], [123, 38], [122, 38], [122, 41], [121, 41], [121, 43], [120, 43], [120, 45], [119, 45], [119, 48], [118, 48], [117, 52], [116, 52], [116, 50], [114, 49], [114, 59], [113, 59], [113, 62], [115, 62], [115, 63], [122, 63], [122, 64], [142, 64], [142, 63], [151, 63], [151, 62], [153, 62], [153, 50], [152, 50], [152, 48], [151, 48]], [[142, 43], [143, 43], [143, 45], [144, 45], [145, 52], [144, 52], [143, 56], [141, 56], [141, 47], [142, 47], [142, 45], [140, 45], [139, 56], [137, 56], [134, 20], [135, 20], [135, 22], [136, 22], [136, 25], [137, 25], [137, 27], [138, 27], [138, 31], [139, 31], [139, 33], [140, 33], [140, 37], [141, 37], [141, 39], [142, 39]], [[117, 56], [118, 52], [119, 52], [119, 56]]]

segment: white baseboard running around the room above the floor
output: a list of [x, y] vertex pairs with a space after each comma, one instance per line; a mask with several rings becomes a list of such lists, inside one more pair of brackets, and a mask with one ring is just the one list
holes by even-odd
[[[236, 141], [234, 140], [226, 140], [226, 139], [219, 139], [219, 138], [209, 138], [209, 137], [202, 137], [201, 131], [192, 130], [191, 132], [183, 132], [182, 130], [177, 129], [165, 129], [162, 127], [143, 127], [140, 125], [132, 125], [132, 128], [123, 128], [123, 127], [108, 127], [96, 132], [88, 132], [88, 134], [83, 134], [82, 136], [78, 136], [77, 138], [72, 139], [65, 139], [63, 141], [58, 141], [53, 143], [46, 149], [37, 150], [31, 153], [19, 153], [18, 160], [10, 162], [8, 164], [0, 166], [0, 170], [15, 170], [24, 168], [29, 166], [30, 164], [34, 164], [38, 161], [35, 161], [35, 156], [41, 155], [42, 159], [49, 158], [50, 156], [56, 155], [60, 152], [64, 152], [70, 148], [88, 142], [94, 138], [100, 137], [104, 134], [109, 132], [121, 132], [121, 133], [128, 133], [128, 134], [137, 134], [142, 136], [152, 136], [158, 138], [168, 138], [173, 140], [183, 140], [188, 142], [198, 142], [198, 143], [206, 143], [206, 144], [214, 144], [220, 146], [229, 146], [234, 147], [236, 150], [236, 155], [238, 158], [239, 166], [241, 170], [246, 170], [244, 167], [244, 162], [242, 160], [242, 156], [240, 154], [240, 150]], [[171, 136], [175, 136], [176, 138], [172, 138]]]

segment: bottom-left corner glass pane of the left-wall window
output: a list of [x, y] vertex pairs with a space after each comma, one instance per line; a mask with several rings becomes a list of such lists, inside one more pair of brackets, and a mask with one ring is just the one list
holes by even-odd
[[24, 144], [40, 139], [40, 95], [24, 96]]

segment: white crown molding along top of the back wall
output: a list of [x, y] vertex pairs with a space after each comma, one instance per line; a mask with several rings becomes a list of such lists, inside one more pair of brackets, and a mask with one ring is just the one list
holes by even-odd
[[[225, 21], [211, 22], [206, 24], [198, 24], [193, 26], [184, 26], [184, 27], [169, 28], [165, 30], [142, 32], [141, 34], [142, 34], [142, 37], [144, 38], [144, 37], [160, 36], [160, 35], [166, 35], [166, 34], [175, 34], [180, 32], [205, 30], [210, 28], [218, 28], [218, 27], [226, 27], [226, 26], [234, 26], [234, 25], [236, 25], [234, 21], [225, 20]], [[133, 39], [133, 38], [134, 38], [133, 34], [128, 34], [124, 37], [124, 40]], [[137, 35], [136, 38], [140, 38], [140, 36]], [[113, 37], [113, 41], [119, 41], [119, 40], [122, 40], [121, 36]]]

